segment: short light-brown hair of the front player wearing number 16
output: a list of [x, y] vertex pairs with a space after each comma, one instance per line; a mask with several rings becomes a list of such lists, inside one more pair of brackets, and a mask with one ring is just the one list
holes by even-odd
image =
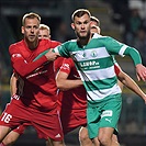
[[25, 20], [26, 20], [26, 19], [35, 19], [35, 18], [36, 18], [36, 19], [38, 20], [38, 22], [41, 23], [41, 16], [40, 16], [37, 13], [31, 12], [31, 13], [24, 14], [24, 16], [22, 18], [22, 25], [25, 24]]

